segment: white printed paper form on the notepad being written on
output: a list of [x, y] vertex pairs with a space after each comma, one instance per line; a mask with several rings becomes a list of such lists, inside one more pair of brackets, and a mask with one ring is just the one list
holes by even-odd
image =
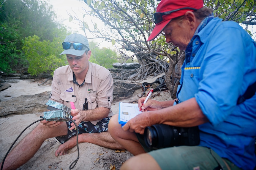
[[138, 104], [120, 102], [119, 114], [120, 121], [122, 122], [128, 122], [130, 119], [134, 118], [141, 112], [142, 111], [140, 111]]

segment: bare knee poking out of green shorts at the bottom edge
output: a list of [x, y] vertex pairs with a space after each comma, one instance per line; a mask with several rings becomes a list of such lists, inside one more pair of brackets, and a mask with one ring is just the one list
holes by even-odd
[[120, 170], [161, 170], [157, 161], [149, 154], [143, 153], [128, 159]]

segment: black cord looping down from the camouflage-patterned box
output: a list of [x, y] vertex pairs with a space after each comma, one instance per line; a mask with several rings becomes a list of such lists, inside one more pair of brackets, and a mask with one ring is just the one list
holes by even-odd
[[[42, 118], [42, 116], [40, 116], [40, 118]], [[77, 157], [76, 160], [75, 160], [74, 162], [72, 162], [72, 163], [70, 164], [70, 166], [69, 166], [69, 169], [73, 169], [73, 168], [75, 167], [75, 165], [76, 165], [76, 163], [77, 163], [79, 157], [80, 157], [80, 156], [79, 156], [79, 148], [78, 148], [78, 127], [77, 127], [77, 125], [76, 125], [76, 123], [75, 123], [74, 120], [70, 119], [69, 117], [65, 117], [65, 118], [71, 120], [71, 121], [75, 124], [75, 127], [76, 127], [76, 134], [77, 134], [77, 135], [76, 135], [76, 145], [77, 145], [78, 157]], [[31, 123], [29, 126], [27, 126], [27, 127], [20, 133], [20, 135], [19, 135], [19, 136], [16, 138], [16, 140], [12, 143], [10, 149], [7, 151], [6, 155], [4, 156], [4, 159], [3, 159], [3, 162], [2, 162], [2, 165], [1, 165], [1, 170], [3, 170], [4, 161], [5, 161], [5, 159], [6, 159], [7, 155], [8, 155], [8, 153], [9, 153], [10, 150], [12, 149], [13, 145], [17, 142], [17, 140], [19, 139], [19, 137], [23, 134], [23, 132], [25, 132], [25, 130], [28, 129], [31, 125], [33, 125], [33, 124], [35, 124], [35, 123], [37, 123], [37, 122], [39, 122], [39, 121], [42, 121], [42, 120], [44, 120], [44, 119], [39, 119], [39, 120], [37, 120], [37, 121]], [[74, 163], [75, 163], [75, 164], [74, 164]], [[74, 164], [74, 165], [73, 165], [73, 164]], [[72, 166], [72, 165], [73, 165], [73, 166]], [[72, 167], [71, 167], [71, 166], [72, 166]]]

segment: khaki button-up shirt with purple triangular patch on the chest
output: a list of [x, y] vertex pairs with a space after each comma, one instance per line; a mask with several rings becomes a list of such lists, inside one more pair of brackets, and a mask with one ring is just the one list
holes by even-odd
[[[108, 116], [113, 116], [111, 102], [113, 101], [113, 78], [108, 69], [89, 62], [89, 69], [84, 84], [79, 86], [73, 82], [73, 71], [69, 65], [59, 67], [54, 71], [52, 92], [50, 100], [82, 110], [85, 98], [88, 101], [88, 109], [105, 107], [110, 109]], [[100, 120], [91, 121], [94, 125]]]

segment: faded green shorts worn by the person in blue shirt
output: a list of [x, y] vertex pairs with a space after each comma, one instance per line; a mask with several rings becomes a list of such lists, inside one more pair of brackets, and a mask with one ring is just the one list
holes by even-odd
[[162, 170], [242, 170], [212, 149], [202, 146], [178, 146], [152, 150], [147, 148], [143, 135], [136, 134], [144, 150]]

